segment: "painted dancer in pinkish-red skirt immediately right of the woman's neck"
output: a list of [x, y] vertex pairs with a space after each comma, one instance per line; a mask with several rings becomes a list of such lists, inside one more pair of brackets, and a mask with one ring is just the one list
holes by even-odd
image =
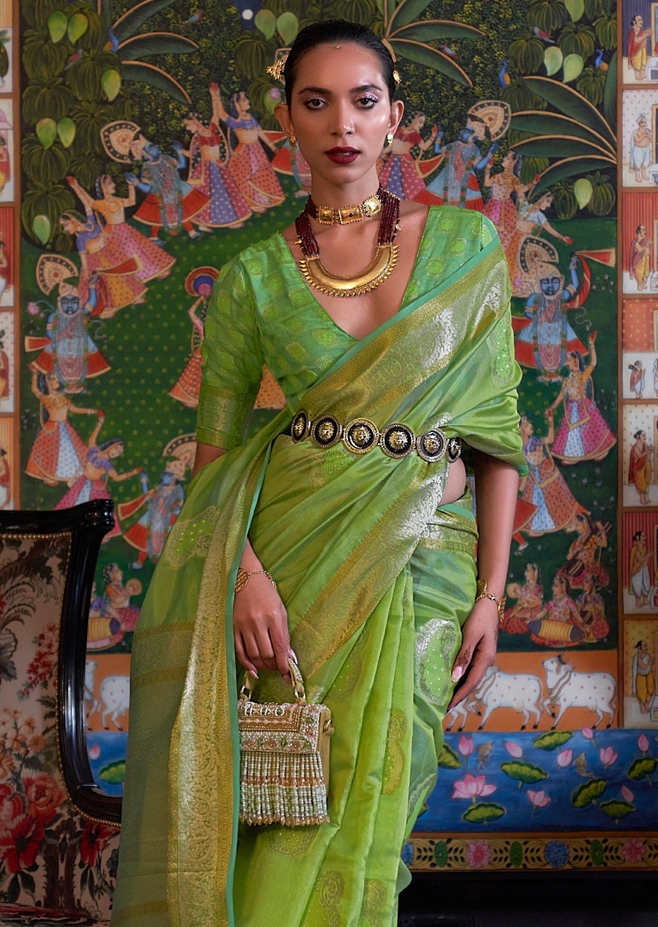
[[[437, 126], [426, 139], [421, 135], [425, 114], [415, 113], [407, 125], [400, 126], [390, 146], [382, 152], [384, 163], [379, 172], [379, 183], [400, 199], [416, 199], [419, 203], [438, 203], [438, 198], [427, 191], [419, 160], [411, 155], [411, 148], [417, 147], [421, 154], [431, 146], [437, 137]], [[420, 156], [419, 156], [420, 159]], [[433, 159], [435, 167], [441, 158]]]

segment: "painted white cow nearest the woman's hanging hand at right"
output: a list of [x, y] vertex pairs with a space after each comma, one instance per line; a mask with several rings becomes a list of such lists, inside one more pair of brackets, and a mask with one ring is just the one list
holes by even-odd
[[449, 727], [461, 717], [459, 730], [463, 730], [468, 713], [481, 714], [484, 711], [477, 729], [482, 730], [497, 708], [513, 708], [517, 714], [524, 716], [521, 730], [525, 730], [531, 714], [535, 717], [533, 728], [537, 730], [541, 717], [540, 700], [541, 679], [538, 676], [502, 673], [499, 667], [489, 667], [474, 692], [449, 712]]

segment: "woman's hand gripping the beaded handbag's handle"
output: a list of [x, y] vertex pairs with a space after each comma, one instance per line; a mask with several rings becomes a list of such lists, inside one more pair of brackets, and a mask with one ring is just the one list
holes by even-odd
[[288, 658], [297, 658], [290, 649], [285, 605], [272, 580], [262, 573], [249, 577], [235, 593], [233, 624], [235, 654], [247, 672], [258, 679], [259, 669], [276, 669], [290, 685]]

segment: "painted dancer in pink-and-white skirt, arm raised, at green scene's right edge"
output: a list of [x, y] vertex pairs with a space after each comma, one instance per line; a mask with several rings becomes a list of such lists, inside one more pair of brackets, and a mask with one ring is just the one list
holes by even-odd
[[594, 401], [591, 375], [597, 364], [595, 339], [596, 332], [590, 333], [587, 366], [582, 354], [569, 351], [566, 359], [569, 374], [563, 377], [560, 395], [549, 406], [550, 412], [561, 402], [564, 406], [563, 420], [552, 448], [553, 456], [563, 464], [602, 461], [617, 443]]

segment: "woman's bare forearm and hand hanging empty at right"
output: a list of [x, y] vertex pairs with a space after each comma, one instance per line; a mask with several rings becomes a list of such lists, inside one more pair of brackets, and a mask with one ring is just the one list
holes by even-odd
[[[479, 531], [477, 572], [487, 580], [488, 591], [501, 596], [507, 579], [519, 475], [511, 464], [482, 451], [474, 449], [473, 458]], [[494, 661], [497, 642], [498, 607], [490, 599], [481, 599], [462, 628], [462, 647], [452, 667], [452, 680], [459, 684], [448, 710], [477, 687]]]

